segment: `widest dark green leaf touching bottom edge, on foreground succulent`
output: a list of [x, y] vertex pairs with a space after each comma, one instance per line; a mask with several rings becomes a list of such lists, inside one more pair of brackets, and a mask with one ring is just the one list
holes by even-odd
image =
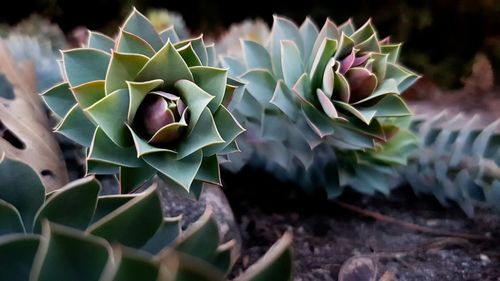
[[109, 244], [83, 232], [45, 222], [30, 280], [99, 280], [112, 264]]

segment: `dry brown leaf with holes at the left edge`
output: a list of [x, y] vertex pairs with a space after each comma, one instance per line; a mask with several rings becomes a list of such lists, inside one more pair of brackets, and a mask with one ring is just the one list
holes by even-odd
[[0, 43], [0, 75], [12, 86], [14, 98], [0, 96], [0, 150], [30, 165], [47, 192], [68, 182], [61, 150], [52, 134], [36, 90], [32, 64], [18, 66]]

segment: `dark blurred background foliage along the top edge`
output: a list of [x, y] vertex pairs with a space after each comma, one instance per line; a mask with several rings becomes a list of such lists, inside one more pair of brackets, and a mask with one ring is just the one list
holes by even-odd
[[[460, 88], [474, 58], [485, 55], [496, 81], [500, 69], [499, 0], [350, 0], [350, 1], [167, 1], [167, 0], [26, 0], [0, 10], [0, 20], [14, 25], [36, 13], [70, 34], [78, 26], [112, 35], [131, 6], [147, 12], [167, 8], [182, 15], [193, 33], [217, 38], [233, 23], [272, 14], [302, 22], [310, 15], [320, 25], [326, 17], [341, 23], [352, 17], [359, 26], [372, 18], [381, 37], [404, 41], [403, 61], [444, 89]], [[484, 56], [483, 56], [484, 57]]]

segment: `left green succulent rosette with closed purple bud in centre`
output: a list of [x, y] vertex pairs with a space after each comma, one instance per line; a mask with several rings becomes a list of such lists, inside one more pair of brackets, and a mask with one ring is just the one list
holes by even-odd
[[62, 52], [65, 81], [42, 96], [56, 131], [88, 147], [88, 174], [117, 174], [130, 192], [155, 174], [184, 189], [220, 184], [218, 157], [244, 130], [225, 107], [234, 87], [203, 37], [157, 33], [137, 10], [116, 39], [90, 32]]

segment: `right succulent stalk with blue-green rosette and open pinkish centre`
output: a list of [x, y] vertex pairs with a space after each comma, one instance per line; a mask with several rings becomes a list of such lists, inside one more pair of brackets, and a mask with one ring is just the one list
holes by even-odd
[[276, 16], [261, 44], [241, 41], [221, 64], [245, 88], [229, 107], [247, 129], [226, 167], [264, 167], [336, 197], [345, 186], [388, 193], [417, 140], [401, 93], [418, 78], [399, 62], [401, 44], [329, 19], [321, 30]]

